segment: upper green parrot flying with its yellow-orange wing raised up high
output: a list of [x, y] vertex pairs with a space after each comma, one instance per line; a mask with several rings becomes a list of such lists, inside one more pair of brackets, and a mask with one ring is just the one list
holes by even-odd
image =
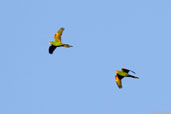
[[49, 44], [50, 44], [50, 47], [49, 47], [49, 54], [53, 54], [53, 51], [56, 49], [56, 47], [67, 47], [67, 48], [70, 48], [72, 47], [71, 45], [69, 44], [63, 44], [62, 41], [61, 41], [61, 36], [62, 36], [62, 33], [64, 31], [64, 28], [60, 28], [56, 34], [54, 35], [54, 41], [50, 41]]

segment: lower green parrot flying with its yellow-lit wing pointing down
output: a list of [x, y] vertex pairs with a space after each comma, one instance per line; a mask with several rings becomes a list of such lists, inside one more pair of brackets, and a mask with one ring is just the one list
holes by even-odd
[[139, 77], [136, 77], [136, 76], [133, 76], [133, 75], [130, 75], [128, 74], [129, 72], [132, 72], [135, 74], [134, 71], [132, 70], [129, 70], [129, 69], [126, 69], [126, 68], [122, 68], [120, 71], [119, 70], [116, 70], [115, 73], [115, 81], [116, 81], [116, 84], [118, 85], [119, 88], [122, 88], [122, 78], [124, 77], [131, 77], [131, 78], [135, 78], [135, 79], [139, 79]]

